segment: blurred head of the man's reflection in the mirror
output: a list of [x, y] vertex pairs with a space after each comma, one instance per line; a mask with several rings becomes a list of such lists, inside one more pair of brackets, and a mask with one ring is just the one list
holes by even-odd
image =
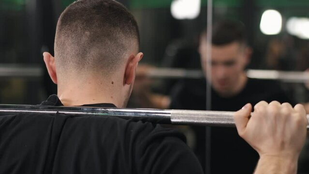
[[[241, 22], [225, 20], [213, 26], [211, 45], [211, 84], [221, 96], [232, 96], [245, 83], [244, 69], [251, 49], [247, 45], [246, 29]], [[200, 54], [206, 73], [206, 33], [201, 36]]]

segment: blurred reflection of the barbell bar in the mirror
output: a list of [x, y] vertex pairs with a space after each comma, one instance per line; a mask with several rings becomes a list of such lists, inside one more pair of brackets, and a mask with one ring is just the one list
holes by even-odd
[[[137, 75], [145, 75], [149, 78], [204, 78], [201, 70], [187, 70], [179, 68], [150, 68], [145, 74], [137, 73]], [[24, 77], [39, 78], [43, 76], [43, 69], [38, 65], [19, 65], [19, 64], [0, 64], [0, 77]], [[292, 71], [276, 71], [276, 70], [247, 70], [247, 76], [257, 79], [280, 80], [291, 83], [307, 83], [309, 82], [309, 73], [292, 72]]]

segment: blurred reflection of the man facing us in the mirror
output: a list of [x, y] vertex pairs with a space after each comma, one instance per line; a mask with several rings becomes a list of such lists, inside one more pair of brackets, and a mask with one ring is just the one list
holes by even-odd
[[[252, 105], [259, 101], [291, 102], [276, 82], [246, 76], [245, 68], [250, 62], [252, 51], [247, 45], [246, 30], [242, 23], [224, 20], [216, 23], [212, 32], [211, 62], [206, 62], [205, 33], [201, 36], [199, 47], [205, 74], [206, 64], [212, 65], [210, 110], [236, 111], [248, 102]], [[183, 80], [172, 90], [170, 108], [206, 110], [206, 97], [206, 79]], [[194, 151], [204, 166], [206, 129], [192, 128], [196, 137]], [[235, 129], [212, 127], [210, 140], [208, 148], [210, 146], [212, 174], [253, 172], [258, 154], [238, 136]], [[226, 167], [222, 167], [222, 164]]]

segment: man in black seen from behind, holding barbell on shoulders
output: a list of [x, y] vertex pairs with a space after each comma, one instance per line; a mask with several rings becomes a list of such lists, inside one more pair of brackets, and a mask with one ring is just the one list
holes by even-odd
[[[124, 6], [114, 0], [76, 1], [59, 18], [55, 58], [44, 53], [58, 96], [41, 105], [124, 107], [142, 56], [136, 22]], [[250, 105], [235, 114], [241, 136], [261, 155], [256, 173], [273, 167], [295, 172], [306, 136], [303, 107], [265, 102], [256, 107], [250, 120]], [[270, 118], [278, 124], [273, 133], [252, 130]], [[260, 136], [265, 138], [254, 140]], [[0, 154], [1, 174], [202, 174], [182, 134], [116, 117], [3, 115]]]

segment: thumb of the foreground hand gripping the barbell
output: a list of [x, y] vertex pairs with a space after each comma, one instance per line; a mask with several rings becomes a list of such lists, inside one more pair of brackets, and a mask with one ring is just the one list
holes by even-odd
[[251, 109], [252, 106], [250, 103], [248, 103], [234, 114], [235, 125], [240, 136], [246, 129], [251, 114]]

